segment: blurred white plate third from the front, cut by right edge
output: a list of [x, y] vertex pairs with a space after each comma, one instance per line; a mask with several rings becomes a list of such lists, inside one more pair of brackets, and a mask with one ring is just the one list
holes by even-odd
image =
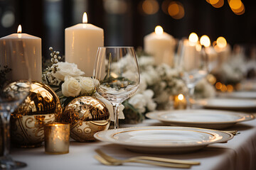
[[256, 108], [256, 100], [233, 99], [233, 98], [210, 98], [199, 101], [205, 108], [225, 109], [225, 110], [250, 110]]

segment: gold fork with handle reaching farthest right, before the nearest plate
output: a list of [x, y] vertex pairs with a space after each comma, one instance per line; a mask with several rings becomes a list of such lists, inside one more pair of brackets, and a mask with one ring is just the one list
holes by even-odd
[[134, 162], [137, 160], [147, 160], [147, 161], [154, 161], [154, 162], [166, 162], [172, 164], [187, 164], [187, 165], [199, 165], [200, 162], [193, 162], [193, 161], [185, 161], [185, 160], [178, 160], [178, 159], [166, 159], [166, 158], [159, 158], [159, 157], [131, 157], [129, 159], [115, 159], [110, 157], [109, 155], [102, 152], [100, 149], [95, 149], [95, 152], [99, 154], [101, 157], [106, 159], [108, 162]]

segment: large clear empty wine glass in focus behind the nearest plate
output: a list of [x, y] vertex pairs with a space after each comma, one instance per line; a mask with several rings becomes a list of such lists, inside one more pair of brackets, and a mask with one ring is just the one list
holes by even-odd
[[93, 77], [97, 93], [114, 107], [114, 129], [117, 129], [119, 106], [139, 87], [134, 47], [99, 47]]

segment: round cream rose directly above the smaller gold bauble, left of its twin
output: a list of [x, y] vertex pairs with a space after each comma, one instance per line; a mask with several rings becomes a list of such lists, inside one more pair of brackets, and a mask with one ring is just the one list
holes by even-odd
[[80, 94], [81, 86], [73, 77], [67, 76], [64, 79], [64, 83], [61, 85], [62, 93], [64, 96], [69, 97], [75, 97]]

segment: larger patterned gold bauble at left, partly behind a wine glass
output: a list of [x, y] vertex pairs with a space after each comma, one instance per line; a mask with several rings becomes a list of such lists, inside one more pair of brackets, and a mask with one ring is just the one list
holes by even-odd
[[33, 81], [25, 101], [11, 114], [11, 142], [17, 147], [39, 147], [44, 141], [43, 124], [58, 120], [62, 108], [55, 92]]

